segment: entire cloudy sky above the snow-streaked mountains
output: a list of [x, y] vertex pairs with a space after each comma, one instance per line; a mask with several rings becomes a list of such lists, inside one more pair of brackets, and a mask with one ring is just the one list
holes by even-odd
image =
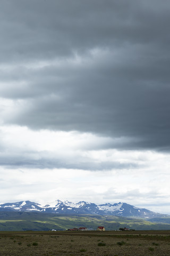
[[1, 0], [1, 203], [170, 214], [169, 12], [169, 0]]

